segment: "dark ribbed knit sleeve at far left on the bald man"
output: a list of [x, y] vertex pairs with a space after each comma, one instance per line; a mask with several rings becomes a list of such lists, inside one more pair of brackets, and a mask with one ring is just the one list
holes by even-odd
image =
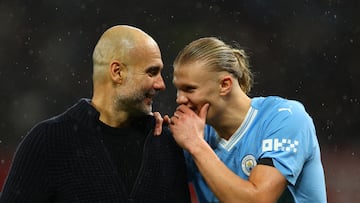
[[1, 203], [45, 202], [50, 194], [45, 127], [35, 126], [17, 148], [3, 188]]

